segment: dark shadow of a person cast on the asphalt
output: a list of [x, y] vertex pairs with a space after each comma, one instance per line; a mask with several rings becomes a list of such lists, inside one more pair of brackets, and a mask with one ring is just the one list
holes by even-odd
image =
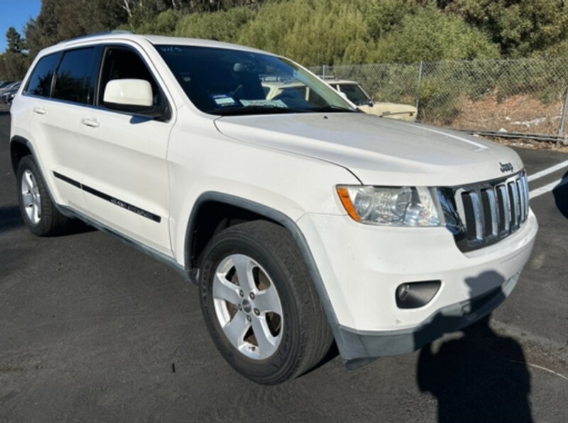
[[462, 332], [437, 352], [432, 344], [420, 351], [417, 383], [437, 398], [438, 422], [532, 422], [520, 344], [495, 333], [489, 316]]

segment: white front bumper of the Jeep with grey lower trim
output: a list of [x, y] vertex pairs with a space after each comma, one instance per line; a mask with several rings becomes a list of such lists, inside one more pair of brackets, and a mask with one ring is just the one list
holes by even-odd
[[[464, 253], [444, 227], [376, 227], [315, 214], [297, 224], [322, 277], [322, 303], [344, 360], [408, 353], [490, 313], [515, 287], [538, 227], [531, 212], [513, 235]], [[430, 280], [441, 281], [430, 302], [398, 308], [400, 284]]]

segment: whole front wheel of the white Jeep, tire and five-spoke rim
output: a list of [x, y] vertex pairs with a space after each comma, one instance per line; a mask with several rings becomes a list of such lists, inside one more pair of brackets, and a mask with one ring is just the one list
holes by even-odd
[[229, 227], [202, 257], [203, 315], [235, 370], [275, 385], [322, 360], [332, 333], [288, 230], [263, 220]]

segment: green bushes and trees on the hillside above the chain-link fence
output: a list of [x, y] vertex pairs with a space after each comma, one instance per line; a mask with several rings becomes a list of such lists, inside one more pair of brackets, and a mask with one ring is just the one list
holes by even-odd
[[124, 29], [251, 45], [305, 65], [568, 55], [564, 0], [43, 0], [0, 80], [41, 48]]

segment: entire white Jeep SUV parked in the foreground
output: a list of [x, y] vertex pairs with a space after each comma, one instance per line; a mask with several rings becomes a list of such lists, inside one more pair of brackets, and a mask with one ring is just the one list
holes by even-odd
[[[299, 82], [266, 98], [267, 79]], [[504, 146], [357, 112], [240, 45], [88, 36], [43, 50], [11, 108], [23, 218], [79, 218], [199, 285], [224, 358], [256, 382], [349, 368], [488, 314], [537, 221]]]

